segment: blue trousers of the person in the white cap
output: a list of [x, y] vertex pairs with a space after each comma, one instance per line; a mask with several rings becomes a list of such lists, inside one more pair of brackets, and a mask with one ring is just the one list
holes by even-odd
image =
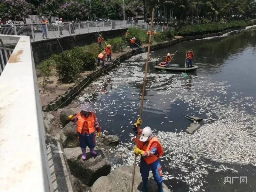
[[148, 175], [149, 175], [149, 170], [151, 168], [151, 171], [153, 173], [154, 180], [157, 183], [158, 186], [158, 191], [159, 192], [164, 192], [163, 190], [163, 177], [162, 177], [162, 168], [160, 165], [159, 159], [157, 159], [154, 163], [147, 164], [146, 161], [143, 159], [143, 157], [140, 158], [140, 173], [142, 177], [142, 192], [147, 191], [148, 187]]

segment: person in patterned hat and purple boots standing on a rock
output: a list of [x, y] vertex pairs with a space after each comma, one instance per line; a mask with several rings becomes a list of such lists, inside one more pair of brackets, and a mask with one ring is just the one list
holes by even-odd
[[90, 148], [91, 154], [96, 156], [97, 152], [94, 151], [95, 147], [95, 128], [98, 133], [98, 137], [101, 136], [101, 128], [98, 123], [97, 117], [94, 114], [94, 108], [87, 102], [79, 105], [81, 109], [80, 113], [76, 116], [70, 115], [68, 118], [71, 121], [77, 121], [77, 133], [79, 144], [82, 149], [82, 159], [86, 159], [86, 147]]

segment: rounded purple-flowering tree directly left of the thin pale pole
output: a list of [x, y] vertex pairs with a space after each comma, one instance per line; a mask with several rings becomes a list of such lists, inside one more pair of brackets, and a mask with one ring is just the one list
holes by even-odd
[[72, 19], [82, 19], [85, 16], [85, 7], [77, 1], [70, 1], [60, 6], [59, 15]]

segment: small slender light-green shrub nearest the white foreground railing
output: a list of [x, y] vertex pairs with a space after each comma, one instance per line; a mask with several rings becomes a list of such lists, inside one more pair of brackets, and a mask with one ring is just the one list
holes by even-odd
[[36, 66], [36, 68], [38, 68], [39, 70], [40, 75], [43, 77], [43, 84], [42, 84], [43, 93], [46, 88], [46, 84], [48, 83], [48, 80], [52, 75], [50, 65], [51, 65], [50, 60], [45, 60]]

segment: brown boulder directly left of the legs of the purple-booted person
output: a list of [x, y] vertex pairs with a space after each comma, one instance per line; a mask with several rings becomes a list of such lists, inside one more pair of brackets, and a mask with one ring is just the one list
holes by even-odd
[[70, 121], [62, 129], [60, 133], [60, 141], [63, 148], [74, 148], [79, 146], [79, 140], [77, 139], [77, 124]]

